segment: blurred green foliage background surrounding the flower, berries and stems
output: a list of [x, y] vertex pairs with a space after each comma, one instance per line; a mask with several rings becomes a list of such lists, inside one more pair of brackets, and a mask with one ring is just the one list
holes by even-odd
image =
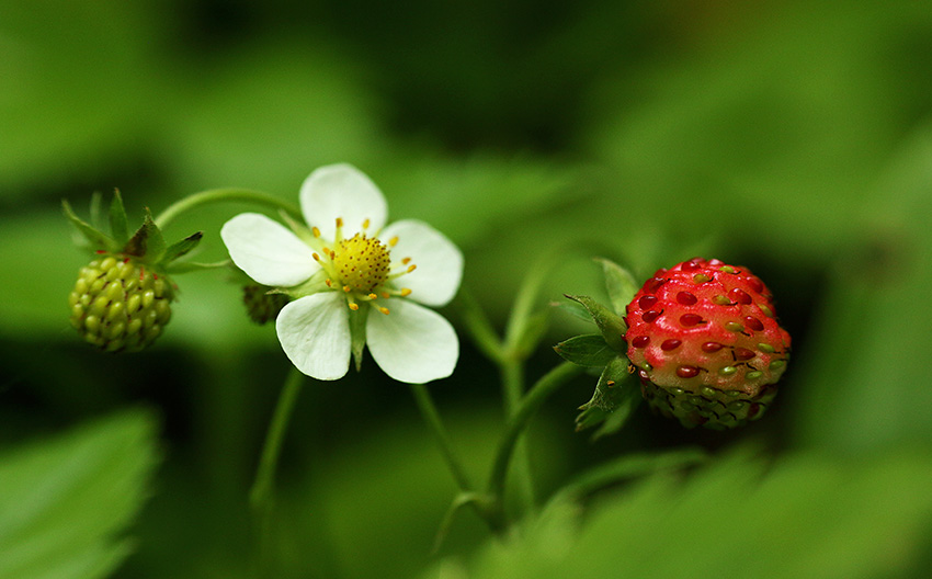
[[[794, 360], [768, 416], [724, 434], [641, 408], [593, 443], [572, 427], [594, 381], [575, 382], [533, 424], [542, 496], [626, 453], [712, 461], [503, 544], [464, 512], [436, 555], [456, 489], [407, 388], [372, 363], [308, 383], [277, 577], [928, 577], [932, 8], [896, 0], [0, 3], [0, 576], [249, 576], [246, 497], [287, 373], [273, 329], [192, 273], [156, 347], [93, 351], [67, 320], [86, 256], [60, 202], [87, 215], [118, 188], [141, 219], [217, 186], [295, 200], [339, 161], [391, 219], [459, 245], [498, 327], [535, 259], [559, 263], [546, 307], [604, 295], [592, 256], [646, 277], [706, 254], [771, 286]], [[204, 230], [196, 259], [223, 259], [245, 208], [166, 232]], [[532, 378], [579, 332], [553, 321]], [[499, 384], [461, 336], [431, 390], [479, 478]]]

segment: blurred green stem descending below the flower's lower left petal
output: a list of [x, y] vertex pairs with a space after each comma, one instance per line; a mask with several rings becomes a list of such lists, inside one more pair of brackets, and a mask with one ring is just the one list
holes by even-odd
[[269, 431], [265, 434], [265, 443], [262, 446], [262, 455], [259, 459], [259, 468], [255, 472], [255, 481], [249, 492], [249, 506], [259, 533], [260, 553], [263, 559], [268, 557], [270, 543], [271, 514], [275, 495], [275, 470], [279, 466], [279, 456], [282, 454], [285, 430], [291, 421], [303, 383], [304, 374], [292, 367], [287, 378], [285, 378], [282, 394], [279, 395], [272, 421], [269, 423]]

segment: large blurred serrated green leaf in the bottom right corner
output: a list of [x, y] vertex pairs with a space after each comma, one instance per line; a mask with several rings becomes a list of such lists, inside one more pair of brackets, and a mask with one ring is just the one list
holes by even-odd
[[920, 567], [932, 520], [928, 447], [770, 461], [759, 449], [739, 451], [685, 478], [661, 470], [601, 496], [584, 516], [572, 503], [570, 518], [545, 511], [514, 538], [481, 550], [463, 575], [928, 577]]

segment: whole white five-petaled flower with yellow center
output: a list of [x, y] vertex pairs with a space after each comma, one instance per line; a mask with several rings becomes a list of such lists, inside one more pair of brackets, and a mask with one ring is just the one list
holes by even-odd
[[349, 164], [314, 171], [302, 185], [300, 207], [307, 226], [243, 213], [220, 230], [239, 269], [296, 297], [275, 322], [292, 363], [317, 379], [338, 379], [367, 343], [399, 382], [450, 376], [459, 341], [424, 306], [444, 306], [459, 288], [456, 246], [418, 220], [385, 227], [385, 197]]

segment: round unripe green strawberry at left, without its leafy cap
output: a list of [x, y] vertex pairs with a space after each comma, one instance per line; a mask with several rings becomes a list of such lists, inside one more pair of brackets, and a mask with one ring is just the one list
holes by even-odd
[[130, 257], [102, 252], [81, 268], [68, 296], [71, 325], [107, 352], [151, 344], [171, 319], [171, 282]]

